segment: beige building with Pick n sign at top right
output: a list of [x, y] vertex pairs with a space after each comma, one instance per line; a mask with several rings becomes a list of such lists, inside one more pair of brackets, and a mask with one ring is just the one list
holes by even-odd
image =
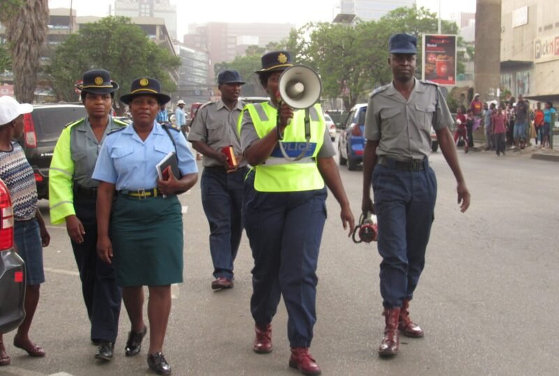
[[559, 102], [559, 1], [502, 0], [501, 88]]

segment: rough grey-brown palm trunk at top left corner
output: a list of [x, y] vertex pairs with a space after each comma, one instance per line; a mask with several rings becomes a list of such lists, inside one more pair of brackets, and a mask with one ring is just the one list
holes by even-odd
[[[11, 11], [4, 12], [3, 6]], [[6, 27], [12, 56], [15, 97], [22, 102], [34, 99], [48, 17], [48, 0], [8, 0], [0, 6], [0, 22]]]

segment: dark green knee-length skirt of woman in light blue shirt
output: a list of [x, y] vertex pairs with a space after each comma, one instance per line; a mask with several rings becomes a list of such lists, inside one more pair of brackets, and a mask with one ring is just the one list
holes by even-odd
[[182, 282], [182, 208], [177, 196], [138, 200], [117, 194], [110, 240], [119, 286]]

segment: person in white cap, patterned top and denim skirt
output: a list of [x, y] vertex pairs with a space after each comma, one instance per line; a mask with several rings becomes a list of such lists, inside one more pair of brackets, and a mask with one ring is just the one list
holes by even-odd
[[[37, 186], [33, 168], [15, 138], [23, 134], [23, 115], [31, 113], [28, 103], [18, 103], [10, 96], [0, 97], [0, 179], [6, 183], [13, 204], [14, 242], [25, 261], [25, 319], [17, 328], [14, 347], [29, 356], [45, 356], [45, 350], [29, 338], [29, 328], [39, 301], [39, 288], [45, 282], [43, 247], [50, 243], [45, 221], [37, 206]], [[0, 366], [10, 364], [0, 333]]]

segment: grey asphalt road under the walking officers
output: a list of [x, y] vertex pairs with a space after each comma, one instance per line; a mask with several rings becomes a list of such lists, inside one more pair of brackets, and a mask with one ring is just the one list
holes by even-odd
[[[402, 338], [395, 359], [377, 356], [384, 326], [375, 244], [352, 243], [341, 228], [337, 203], [328, 197], [312, 344], [323, 375], [558, 374], [558, 164], [514, 153], [498, 158], [460, 152], [459, 157], [472, 193], [465, 214], [458, 210], [456, 184], [442, 154], [430, 158], [438, 179], [437, 208], [426, 269], [412, 302], [412, 318], [426, 335]], [[340, 173], [358, 217], [361, 172], [342, 167]], [[184, 283], [173, 286], [164, 350], [173, 375], [298, 375], [287, 365], [282, 303], [273, 322], [273, 353], [252, 352], [252, 258], [246, 238], [235, 263], [235, 288], [210, 289], [209, 230], [200, 196], [198, 184], [181, 197], [187, 209]], [[44, 212], [47, 206], [41, 202]], [[0, 368], [0, 375], [151, 374], [145, 348], [139, 356], [124, 356], [129, 331], [124, 305], [115, 359], [94, 359], [66, 230], [49, 230], [47, 282], [31, 328], [47, 356], [31, 359], [11, 345], [8, 333], [12, 365]]]

